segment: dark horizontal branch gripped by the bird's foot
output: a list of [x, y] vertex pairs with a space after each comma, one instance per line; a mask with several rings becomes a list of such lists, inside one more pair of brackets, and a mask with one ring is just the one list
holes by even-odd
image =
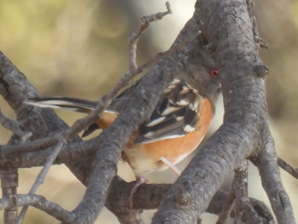
[[[127, 183], [120, 177], [115, 177], [111, 183], [105, 206], [114, 214], [126, 214], [126, 212], [130, 211], [128, 198], [134, 184], [135, 182]], [[170, 184], [141, 185], [133, 198], [133, 211], [158, 208], [170, 187]], [[230, 197], [230, 193], [217, 191], [207, 208], [207, 212], [220, 215], [228, 197]], [[115, 201], [118, 203], [114, 203]], [[235, 212], [232, 211], [231, 217], [234, 218], [235, 215]], [[263, 223], [274, 224], [271, 211], [263, 202], [246, 197], [243, 200], [243, 216], [241, 220], [246, 223], [250, 221], [251, 223], [258, 223], [258, 221], [262, 220]]]

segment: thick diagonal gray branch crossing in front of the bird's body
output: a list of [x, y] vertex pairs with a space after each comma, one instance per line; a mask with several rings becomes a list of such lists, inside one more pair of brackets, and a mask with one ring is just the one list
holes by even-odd
[[[187, 33], [195, 27], [194, 20], [190, 20], [182, 31], [185, 35], [178, 36], [175, 43], [183, 42], [185, 36], [192, 36], [187, 35]], [[166, 85], [178, 74], [186, 73], [184, 65], [189, 64], [189, 60], [198, 56], [195, 52], [199, 49], [200, 44], [198, 39], [192, 39], [181, 50], [160, 60], [142, 78], [139, 85], [121, 97], [122, 99], [125, 97], [129, 99], [125, 101], [127, 102], [125, 109], [100, 136], [94, 138], [95, 145], [100, 150], [96, 153], [97, 162], [89, 178], [84, 199], [74, 210], [78, 217], [76, 222], [83, 222], [86, 217], [89, 217], [90, 222], [95, 220], [106, 199], [108, 186], [116, 174], [122, 147], [128, 142], [139, 125], [145, 119], [149, 119]], [[193, 54], [191, 58], [187, 56], [190, 52]], [[193, 61], [200, 62], [199, 59], [193, 59]], [[93, 203], [91, 204], [90, 201]]]

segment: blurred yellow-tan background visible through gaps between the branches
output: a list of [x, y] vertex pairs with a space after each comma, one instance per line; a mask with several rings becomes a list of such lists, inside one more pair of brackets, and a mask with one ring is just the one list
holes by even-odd
[[[1, 0], [0, 50], [21, 70], [41, 96], [70, 96], [99, 100], [119, 77], [128, 70], [128, 33], [136, 30], [139, 18], [165, 11], [160, 0]], [[156, 53], [167, 50], [177, 34], [191, 18], [195, 0], [170, 0], [172, 15], [150, 24], [138, 45], [138, 65]], [[255, 2], [260, 36], [270, 45], [260, 50], [267, 78], [268, 110], [271, 132], [277, 154], [298, 167], [298, 1], [262, 0]], [[3, 113], [14, 119], [13, 111], [1, 98]], [[69, 125], [81, 114], [57, 111]], [[208, 136], [222, 123], [222, 100]], [[0, 127], [0, 144], [6, 144], [11, 133]], [[95, 136], [95, 133], [93, 136]], [[207, 136], [207, 137], [208, 137]], [[179, 164], [184, 169], [191, 156]], [[268, 199], [260, 183], [257, 169], [249, 166], [249, 196]], [[40, 168], [19, 170], [18, 193], [30, 190]], [[128, 165], [119, 162], [119, 175], [133, 181]], [[283, 183], [290, 195], [298, 219], [298, 180], [281, 171]], [[172, 171], [148, 174], [152, 183], [172, 183]], [[231, 178], [232, 179], [232, 175]], [[223, 185], [229, 190], [229, 181]], [[37, 194], [74, 209], [83, 197], [85, 187], [63, 165], [52, 166]], [[150, 223], [155, 211], [144, 211]], [[204, 214], [203, 223], [215, 221], [215, 215]], [[106, 209], [97, 223], [118, 223]], [[3, 223], [3, 211], [0, 212]], [[58, 223], [42, 211], [30, 208], [24, 223]]]

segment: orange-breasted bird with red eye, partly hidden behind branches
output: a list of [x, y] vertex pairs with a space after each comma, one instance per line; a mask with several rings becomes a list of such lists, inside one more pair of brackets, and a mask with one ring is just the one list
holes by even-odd
[[[175, 77], [167, 85], [150, 119], [139, 126], [123, 148], [121, 159], [130, 165], [137, 180], [131, 194], [139, 185], [148, 182], [142, 176], [144, 173], [170, 168], [180, 176], [181, 171], [175, 165], [193, 152], [206, 135], [215, 113], [215, 101], [221, 84], [214, 62], [204, 55], [200, 63], [189, 64], [188, 79]], [[96, 129], [107, 128], [130, 98], [131, 89], [138, 84], [136, 82], [119, 94], [82, 137]], [[82, 113], [90, 113], [98, 104], [96, 101], [69, 97], [34, 97], [24, 103]]]

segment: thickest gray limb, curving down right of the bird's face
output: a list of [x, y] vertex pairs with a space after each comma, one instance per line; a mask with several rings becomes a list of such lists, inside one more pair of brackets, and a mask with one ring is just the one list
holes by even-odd
[[[195, 223], [226, 175], [257, 149], [268, 124], [265, 82], [254, 71], [262, 62], [246, 1], [198, 0], [194, 17], [219, 66], [224, 124], [170, 188], [152, 223]], [[185, 189], [187, 203], [175, 200], [178, 189]]]

